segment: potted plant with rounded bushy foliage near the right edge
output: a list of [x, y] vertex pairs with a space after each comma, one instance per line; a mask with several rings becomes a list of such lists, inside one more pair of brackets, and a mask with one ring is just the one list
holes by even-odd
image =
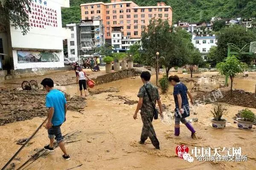
[[237, 120], [237, 126], [239, 129], [251, 129], [253, 128], [253, 122], [255, 121], [255, 115], [252, 111], [244, 109], [240, 111], [241, 118]]

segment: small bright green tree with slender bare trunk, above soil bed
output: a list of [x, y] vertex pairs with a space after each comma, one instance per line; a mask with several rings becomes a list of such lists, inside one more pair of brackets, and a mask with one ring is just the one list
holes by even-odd
[[244, 71], [244, 69], [246, 68], [246, 64], [243, 62], [240, 62], [239, 59], [233, 55], [224, 59], [223, 62], [218, 63], [216, 65], [216, 68], [221, 75], [230, 77], [230, 81], [231, 81], [230, 90], [232, 94], [234, 77], [237, 74], [242, 73]]

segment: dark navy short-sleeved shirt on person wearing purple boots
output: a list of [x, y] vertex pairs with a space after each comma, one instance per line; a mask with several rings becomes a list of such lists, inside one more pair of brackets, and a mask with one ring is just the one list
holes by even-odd
[[178, 97], [177, 95], [180, 94], [181, 99], [182, 99], [182, 108], [184, 106], [189, 106], [189, 101], [188, 101], [188, 96], [187, 96], [187, 91], [188, 89], [186, 88], [186, 85], [183, 83], [177, 83], [174, 88], [173, 88], [173, 96], [174, 96], [174, 101], [175, 101], [175, 108], [179, 108], [179, 103], [178, 103]]

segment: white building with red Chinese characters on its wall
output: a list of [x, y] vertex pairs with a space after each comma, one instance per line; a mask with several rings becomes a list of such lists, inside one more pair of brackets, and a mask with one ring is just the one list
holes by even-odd
[[32, 0], [31, 12], [26, 11], [30, 25], [26, 35], [13, 26], [9, 33], [1, 30], [1, 52], [6, 54], [1, 56], [3, 69], [11, 78], [64, 68], [63, 40], [70, 30], [62, 28], [61, 8], [66, 7], [69, 0]]

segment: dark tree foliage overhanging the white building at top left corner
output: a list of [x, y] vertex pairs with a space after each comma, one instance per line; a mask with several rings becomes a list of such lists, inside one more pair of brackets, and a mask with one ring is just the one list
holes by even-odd
[[9, 32], [10, 23], [15, 29], [20, 28], [23, 35], [29, 31], [29, 16], [31, 0], [0, 0], [0, 28]]

